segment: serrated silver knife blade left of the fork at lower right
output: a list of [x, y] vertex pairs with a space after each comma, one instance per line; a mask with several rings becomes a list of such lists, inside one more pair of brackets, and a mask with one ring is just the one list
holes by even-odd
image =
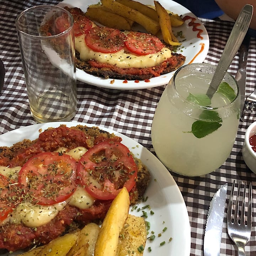
[[228, 183], [214, 194], [210, 202], [204, 233], [204, 256], [219, 255], [227, 188]]

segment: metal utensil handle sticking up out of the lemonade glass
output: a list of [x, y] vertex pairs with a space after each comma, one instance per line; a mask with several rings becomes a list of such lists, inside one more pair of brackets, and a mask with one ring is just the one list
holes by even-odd
[[242, 41], [244, 40], [245, 34], [251, 22], [252, 13], [253, 6], [249, 4], [246, 4], [241, 10], [230, 33], [222, 56], [220, 57], [219, 64], [213, 75], [212, 82], [210, 83], [209, 89], [207, 91], [207, 95], [213, 95], [214, 92], [218, 89], [220, 82], [222, 81], [226, 71], [228, 70], [232, 60], [235, 57], [235, 54], [237, 53]]

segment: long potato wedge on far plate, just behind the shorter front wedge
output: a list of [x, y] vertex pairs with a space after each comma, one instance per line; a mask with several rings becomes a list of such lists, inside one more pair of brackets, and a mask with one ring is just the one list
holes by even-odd
[[103, 6], [110, 9], [111, 12], [129, 18], [138, 24], [142, 25], [148, 33], [157, 34], [160, 29], [159, 23], [149, 18], [148, 16], [131, 9], [123, 4], [114, 0], [101, 0]]

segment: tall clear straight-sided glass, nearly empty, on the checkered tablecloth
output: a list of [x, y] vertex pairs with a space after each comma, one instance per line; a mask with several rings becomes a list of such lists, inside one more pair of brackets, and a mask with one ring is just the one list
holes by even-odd
[[73, 17], [40, 5], [16, 18], [31, 114], [39, 122], [69, 121], [77, 111]]

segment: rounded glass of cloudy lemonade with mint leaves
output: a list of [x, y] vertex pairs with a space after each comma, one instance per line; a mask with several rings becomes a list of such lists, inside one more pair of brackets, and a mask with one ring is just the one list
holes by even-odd
[[171, 171], [201, 176], [219, 168], [233, 148], [239, 124], [240, 93], [226, 73], [208, 94], [216, 66], [188, 64], [166, 86], [153, 118], [154, 150]]

